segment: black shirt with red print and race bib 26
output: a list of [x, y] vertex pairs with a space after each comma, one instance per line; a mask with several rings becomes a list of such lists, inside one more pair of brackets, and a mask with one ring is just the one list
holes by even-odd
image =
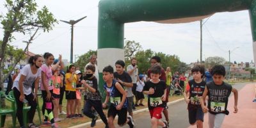
[[193, 108], [200, 108], [200, 97], [204, 93], [205, 89], [205, 81], [202, 81], [200, 83], [196, 83], [195, 79], [192, 79], [188, 81], [188, 86], [190, 87], [189, 90], [189, 99], [190, 102], [188, 104], [188, 109], [193, 109]]

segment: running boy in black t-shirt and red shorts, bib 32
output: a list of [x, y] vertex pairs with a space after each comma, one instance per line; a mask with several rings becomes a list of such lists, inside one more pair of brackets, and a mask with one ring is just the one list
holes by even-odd
[[145, 83], [143, 87], [143, 93], [148, 95], [148, 109], [151, 116], [152, 127], [168, 127], [166, 120], [163, 122], [159, 119], [162, 118], [161, 113], [164, 109], [163, 101], [166, 100], [166, 83], [160, 81], [161, 67], [154, 65], [150, 72], [150, 81]]

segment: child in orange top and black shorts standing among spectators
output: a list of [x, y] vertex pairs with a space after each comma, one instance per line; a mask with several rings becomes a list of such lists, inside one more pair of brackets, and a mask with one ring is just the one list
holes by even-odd
[[60, 102], [60, 88], [63, 87], [63, 76], [60, 76], [60, 67], [56, 68], [54, 74], [52, 76], [52, 86], [53, 86], [53, 94], [52, 94], [52, 102], [53, 102], [53, 116], [54, 122], [60, 122], [63, 120], [59, 118], [58, 110], [59, 110], [59, 102]]

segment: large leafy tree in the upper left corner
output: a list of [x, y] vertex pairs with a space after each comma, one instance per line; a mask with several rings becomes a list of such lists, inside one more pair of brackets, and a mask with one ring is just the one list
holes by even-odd
[[[4, 74], [4, 62], [8, 56], [14, 56], [14, 64], [20, 61], [20, 58], [24, 56], [24, 51], [26, 51], [29, 43], [33, 40], [38, 29], [45, 31], [52, 30], [54, 23], [57, 20], [54, 18], [51, 12], [44, 6], [41, 10], [38, 10], [38, 6], [35, 0], [6, 0], [4, 4], [6, 8], [6, 14], [0, 14], [0, 21], [3, 26], [3, 39], [0, 40], [0, 84], [3, 88], [3, 81], [10, 75], [15, 65]], [[33, 36], [27, 42], [27, 47], [22, 51], [22, 49], [13, 49], [10, 42], [15, 40], [13, 33], [22, 33], [23, 35]], [[23, 53], [23, 54], [22, 54]], [[20, 56], [19, 56], [20, 55]]]

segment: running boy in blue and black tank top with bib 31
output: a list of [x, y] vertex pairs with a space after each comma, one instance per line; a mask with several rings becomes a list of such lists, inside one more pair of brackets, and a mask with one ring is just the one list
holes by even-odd
[[127, 93], [122, 88], [122, 85], [113, 79], [113, 72], [114, 69], [110, 65], [103, 68], [102, 72], [103, 80], [105, 81], [103, 88], [106, 92], [106, 100], [102, 107], [106, 108], [109, 99], [111, 103], [108, 109], [108, 125], [111, 128], [115, 128], [114, 120], [115, 116], [118, 115], [117, 124], [120, 127], [128, 124], [132, 128], [134, 127], [132, 116], [127, 116]]

